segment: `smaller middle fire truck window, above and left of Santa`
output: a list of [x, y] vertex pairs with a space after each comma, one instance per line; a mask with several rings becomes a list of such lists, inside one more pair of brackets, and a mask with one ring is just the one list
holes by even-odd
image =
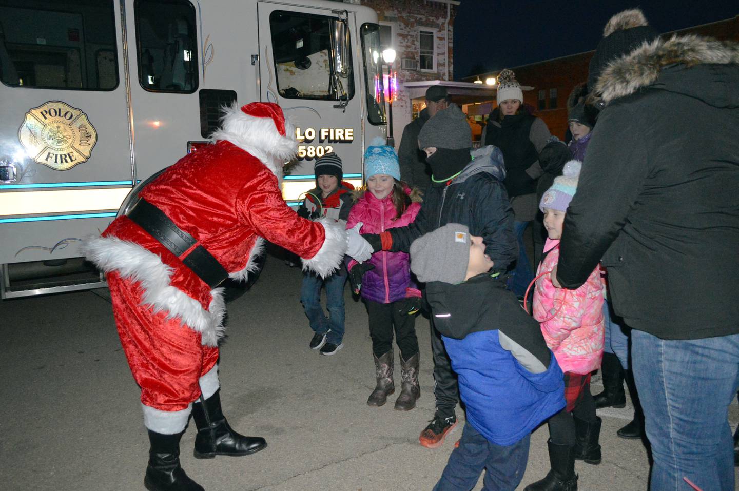
[[139, 83], [149, 92], [197, 90], [195, 8], [187, 0], [137, 0]]

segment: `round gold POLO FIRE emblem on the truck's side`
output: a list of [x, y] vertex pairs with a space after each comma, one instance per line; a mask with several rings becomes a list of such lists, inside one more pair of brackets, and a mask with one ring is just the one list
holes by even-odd
[[98, 132], [81, 109], [50, 100], [26, 113], [18, 140], [35, 162], [67, 171], [89, 159]]

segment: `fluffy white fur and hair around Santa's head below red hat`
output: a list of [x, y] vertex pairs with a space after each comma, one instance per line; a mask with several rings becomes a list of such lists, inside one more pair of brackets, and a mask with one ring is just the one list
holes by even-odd
[[285, 117], [285, 136], [277, 131], [270, 117], [254, 117], [241, 110], [239, 104], [223, 108], [221, 127], [211, 135], [216, 141], [231, 142], [261, 160], [270, 171], [282, 176], [282, 166], [298, 151], [295, 126]]

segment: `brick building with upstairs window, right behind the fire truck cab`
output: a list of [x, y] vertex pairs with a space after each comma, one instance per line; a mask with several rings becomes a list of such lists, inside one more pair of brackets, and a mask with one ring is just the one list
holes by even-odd
[[[403, 128], [414, 115], [404, 83], [453, 80], [452, 29], [459, 0], [344, 0], [372, 7], [378, 14], [383, 49], [395, 49], [392, 71], [398, 92], [392, 104], [392, 134], [400, 143]], [[415, 104], [418, 113], [418, 103]]]

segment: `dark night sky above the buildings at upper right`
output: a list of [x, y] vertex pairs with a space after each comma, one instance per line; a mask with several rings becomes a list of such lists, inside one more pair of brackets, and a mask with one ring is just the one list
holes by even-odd
[[615, 13], [641, 7], [659, 32], [739, 14], [734, 0], [461, 0], [454, 20], [454, 79], [596, 49]]

